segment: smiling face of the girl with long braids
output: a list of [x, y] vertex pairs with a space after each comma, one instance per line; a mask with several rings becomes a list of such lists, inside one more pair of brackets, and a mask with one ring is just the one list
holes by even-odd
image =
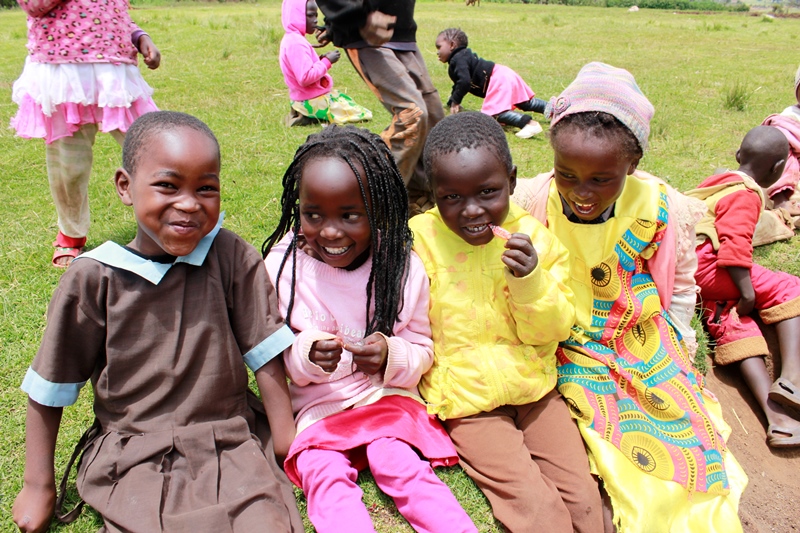
[[[364, 173], [359, 169], [362, 183]], [[300, 176], [300, 225], [309, 255], [336, 268], [356, 268], [369, 255], [372, 232], [358, 180], [341, 159], [308, 161]]]

